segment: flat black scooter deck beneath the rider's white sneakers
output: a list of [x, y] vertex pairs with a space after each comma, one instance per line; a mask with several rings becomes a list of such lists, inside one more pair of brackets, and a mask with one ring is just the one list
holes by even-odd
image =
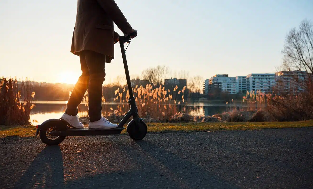
[[125, 127], [119, 127], [114, 129], [89, 129], [84, 127], [81, 129], [67, 129], [65, 131], [66, 136], [87, 136], [87, 135], [116, 135], [120, 134]]

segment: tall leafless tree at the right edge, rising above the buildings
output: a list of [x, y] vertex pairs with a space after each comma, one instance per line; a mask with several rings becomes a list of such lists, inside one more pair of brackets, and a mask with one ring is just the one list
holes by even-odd
[[[306, 90], [312, 91], [313, 73], [313, 24], [305, 19], [299, 28], [292, 28], [286, 36], [283, 67], [288, 71], [302, 71], [292, 74], [295, 82], [303, 83]], [[299, 77], [299, 73], [302, 74]]]

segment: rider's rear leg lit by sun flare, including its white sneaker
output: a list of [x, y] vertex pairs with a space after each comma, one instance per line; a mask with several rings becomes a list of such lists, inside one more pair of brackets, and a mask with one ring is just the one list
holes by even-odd
[[80, 67], [82, 74], [74, 86], [74, 89], [66, 105], [66, 110], [61, 117], [62, 120], [65, 120], [69, 125], [75, 128], [84, 127], [84, 125], [79, 122], [77, 117], [78, 105], [80, 105], [81, 101], [83, 100], [89, 85], [89, 71], [86, 64], [85, 54], [83, 52], [80, 53]]

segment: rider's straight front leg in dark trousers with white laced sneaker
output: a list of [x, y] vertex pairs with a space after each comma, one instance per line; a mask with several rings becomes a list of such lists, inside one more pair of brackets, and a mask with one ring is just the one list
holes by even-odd
[[88, 114], [90, 129], [111, 129], [116, 128], [105, 119], [102, 114], [102, 84], [105, 80], [105, 55], [93, 51], [85, 52], [86, 63], [89, 71], [88, 90]]

